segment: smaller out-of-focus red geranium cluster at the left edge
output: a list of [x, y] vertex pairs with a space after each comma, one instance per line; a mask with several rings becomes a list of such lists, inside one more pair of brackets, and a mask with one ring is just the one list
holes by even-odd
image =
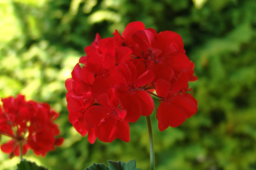
[[9, 153], [9, 157], [20, 155], [20, 144], [22, 155], [31, 148], [36, 155], [45, 154], [55, 150], [54, 146], [60, 146], [63, 137], [59, 135], [58, 125], [53, 123], [59, 117], [59, 113], [50, 109], [48, 103], [37, 103], [25, 101], [25, 96], [18, 95], [17, 98], [9, 97], [2, 99], [3, 106], [0, 107], [0, 135], [12, 138], [9, 142], [1, 145], [3, 152]]

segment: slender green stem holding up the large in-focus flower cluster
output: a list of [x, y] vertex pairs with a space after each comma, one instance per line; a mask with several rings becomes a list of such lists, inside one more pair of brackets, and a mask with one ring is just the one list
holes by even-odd
[[148, 124], [149, 149], [150, 149], [150, 170], [155, 170], [155, 153], [153, 144], [153, 132], [150, 116], [145, 116]]

